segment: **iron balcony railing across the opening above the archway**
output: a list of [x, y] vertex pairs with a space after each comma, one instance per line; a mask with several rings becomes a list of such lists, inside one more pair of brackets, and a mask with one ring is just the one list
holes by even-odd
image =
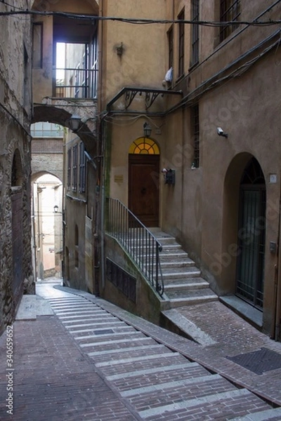
[[97, 69], [54, 69], [55, 98], [96, 98], [98, 87]]

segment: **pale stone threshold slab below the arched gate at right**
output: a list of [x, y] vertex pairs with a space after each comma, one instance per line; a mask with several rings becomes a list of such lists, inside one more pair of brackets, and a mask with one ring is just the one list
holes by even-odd
[[244, 317], [244, 319], [254, 323], [256, 327], [261, 328], [263, 326], [263, 312], [247, 304], [247, 302], [236, 297], [236, 295], [225, 295], [219, 297], [219, 300]]

